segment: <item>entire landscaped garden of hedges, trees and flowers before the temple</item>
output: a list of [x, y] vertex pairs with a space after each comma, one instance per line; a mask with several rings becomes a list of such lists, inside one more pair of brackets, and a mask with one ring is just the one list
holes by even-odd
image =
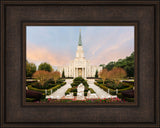
[[[127, 73], [124, 69], [114, 67], [111, 70], [103, 69], [99, 73], [96, 71], [95, 84], [90, 86], [87, 79], [76, 77], [70, 86], [64, 86], [65, 76], [61, 76], [60, 72], [53, 71], [51, 66], [47, 63], [42, 63], [39, 70], [35, 70], [32, 63], [27, 68], [28, 79], [26, 81], [26, 101], [36, 103], [124, 103], [134, 102], [134, 81], [127, 81]], [[62, 94], [60, 89], [64, 86], [66, 89], [63, 91], [61, 98], [56, 98], [59, 93]], [[96, 86], [96, 87], [95, 87]], [[97, 88], [98, 87], [98, 88]], [[82, 90], [81, 90], [81, 89]], [[58, 92], [57, 92], [58, 90]], [[81, 91], [80, 91], [81, 90]], [[98, 91], [99, 90], [99, 91]], [[56, 92], [56, 93], [54, 93]], [[89, 93], [90, 92], [90, 93]], [[103, 98], [99, 97], [104, 95]], [[114, 98], [108, 97], [108, 94]], [[90, 96], [95, 96], [91, 98]], [[48, 96], [46, 98], [46, 96]], [[50, 98], [50, 96], [52, 98]], [[71, 99], [67, 99], [67, 98]], [[80, 99], [79, 99], [79, 98]], [[82, 98], [82, 99], [81, 99]]]

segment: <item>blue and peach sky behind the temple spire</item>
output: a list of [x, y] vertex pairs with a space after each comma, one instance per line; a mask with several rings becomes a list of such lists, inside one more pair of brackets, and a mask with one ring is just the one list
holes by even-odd
[[80, 29], [85, 58], [93, 65], [123, 59], [134, 51], [134, 26], [27, 26], [27, 60], [37, 66], [69, 64]]

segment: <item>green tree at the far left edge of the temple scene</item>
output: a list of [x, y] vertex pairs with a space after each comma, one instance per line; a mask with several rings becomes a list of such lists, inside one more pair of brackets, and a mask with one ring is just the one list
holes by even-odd
[[36, 72], [36, 65], [34, 63], [29, 63], [26, 60], [26, 77], [32, 77], [33, 73]]

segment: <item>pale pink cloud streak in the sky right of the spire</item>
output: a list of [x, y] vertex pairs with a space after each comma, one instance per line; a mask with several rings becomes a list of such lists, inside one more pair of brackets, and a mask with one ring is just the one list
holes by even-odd
[[[123, 45], [125, 45], [129, 40], [134, 39], [134, 35], [129, 35], [127, 33], [124, 33], [121, 38], [117, 41], [115, 45], [111, 45], [110, 47], [106, 48], [101, 45], [101, 50], [98, 55], [91, 56], [88, 58], [91, 62], [91, 64], [107, 64], [110, 61], [117, 61], [120, 58], [125, 58], [126, 55], [130, 55], [130, 50], [126, 49], [123, 50]], [[105, 39], [102, 41], [104, 42]], [[92, 49], [95, 48], [95, 46], [92, 47]], [[131, 50], [132, 51], [132, 50]]]

